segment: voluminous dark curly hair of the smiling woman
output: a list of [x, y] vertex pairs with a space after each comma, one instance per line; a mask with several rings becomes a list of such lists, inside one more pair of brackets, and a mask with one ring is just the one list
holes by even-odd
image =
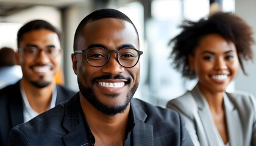
[[172, 38], [169, 44], [174, 44], [171, 52], [171, 57], [174, 57], [172, 65], [183, 77], [196, 78], [194, 72], [190, 71], [188, 55], [193, 55], [202, 37], [212, 33], [221, 35], [225, 40], [235, 44], [241, 69], [246, 75], [243, 60], [252, 60], [254, 38], [251, 27], [238, 15], [218, 12], [208, 19], [200, 19], [197, 22], [185, 20], [180, 27], [182, 32]]

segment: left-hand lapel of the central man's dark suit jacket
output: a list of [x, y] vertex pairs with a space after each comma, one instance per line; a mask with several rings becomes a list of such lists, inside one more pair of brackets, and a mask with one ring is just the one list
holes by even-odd
[[79, 93], [77, 93], [65, 107], [63, 127], [68, 131], [68, 134], [62, 138], [65, 145], [89, 145], [79, 106]]

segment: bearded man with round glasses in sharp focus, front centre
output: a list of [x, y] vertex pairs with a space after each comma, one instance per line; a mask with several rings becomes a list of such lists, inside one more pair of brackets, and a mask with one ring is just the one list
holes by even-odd
[[80, 91], [10, 131], [10, 145], [192, 145], [179, 114], [133, 99], [140, 80], [138, 32], [114, 9], [86, 16], [74, 36]]

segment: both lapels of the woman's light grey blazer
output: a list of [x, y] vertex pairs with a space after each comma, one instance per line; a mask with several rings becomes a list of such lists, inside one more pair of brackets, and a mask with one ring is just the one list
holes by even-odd
[[[194, 99], [196, 100], [197, 106], [198, 106], [198, 113], [202, 120], [202, 125], [205, 129], [205, 134], [208, 138], [208, 142], [211, 145], [218, 145], [216, 143], [215, 133], [213, 132], [213, 127], [209, 126], [215, 125], [213, 123], [212, 117], [210, 114], [208, 114], [210, 111], [210, 108], [208, 108], [208, 103], [202, 94], [202, 92], [199, 89], [198, 84], [193, 88], [191, 91], [193, 94]], [[243, 142], [243, 137], [240, 134], [242, 133], [241, 129], [241, 120], [238, 111], [235, 108], [235, 105], [233, 105], [232, 101], [229, 99], [229, 96], [226, 92], [223, 94], [224, 97], [224, 107], [225, 107], [225, 113], [226, 113], [226, 120], [227, 120], [227, 130], [229, 133], [229, 143], [230, 145], [243, 145], [241, 142]], [[234, 128], [235, 127], [235, 128]]]

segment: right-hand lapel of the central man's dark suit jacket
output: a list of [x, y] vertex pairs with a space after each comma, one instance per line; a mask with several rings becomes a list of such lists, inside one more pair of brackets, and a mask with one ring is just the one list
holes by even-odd
[[146, 124], [144, 121], [146, 120], [147, 114], [144, 113], [143, 109], [141, 109], [140, 105], [132, 99], [131, 107], [133, 112], [133, 117], [135, 120], [135, 127], [132, 130], [132, 139], [133, 145], [141, 145], [141, 146], [149, 146], [149, 145], [157, 145], [154, 144], [154, 134], [153, 134], [153, 126]]

